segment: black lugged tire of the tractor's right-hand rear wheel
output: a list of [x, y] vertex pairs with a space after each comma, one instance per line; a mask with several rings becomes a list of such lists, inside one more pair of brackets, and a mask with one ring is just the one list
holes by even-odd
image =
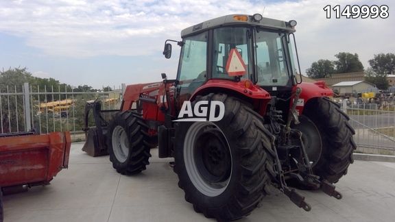
[[352, 151], [357, 148], [347, 114], [327, 98], [309, 101], [303, 114], [317, 126], [322, 139], [322, 152], [313, 164], [313, 172], [328, 182], [336, 183], [346, 175], [353, 162]]

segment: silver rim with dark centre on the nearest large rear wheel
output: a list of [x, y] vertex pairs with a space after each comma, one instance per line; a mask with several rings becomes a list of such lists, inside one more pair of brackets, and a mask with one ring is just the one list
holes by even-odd
[[226, 136], [211, 122], [195, 122], [184, 140], [184, 164], [200, 193], [215, 197], [224, 192], [232, 175], [232, 154]]

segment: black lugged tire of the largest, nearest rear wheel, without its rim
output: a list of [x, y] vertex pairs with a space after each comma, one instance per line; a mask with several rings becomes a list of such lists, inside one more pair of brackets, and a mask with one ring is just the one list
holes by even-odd
[[196, 101], [211, 99], [223, 101], [225, 108], [230, 108], [226, 111], [228, 114], [224, 118], [229, 123], [228, 127], [234, 129], [235, 133], [230, 136], [237, 141], [235, 153], [240, 154], [241, 177], [237, 181], [237, 190], [222, 207], [200, 206], [199, 201], [190, 195], [189, 179], [182, 176], [183, 169], [180, 164], [177, 164], [178, 160], [176, 160], [174, 171], [180, 179], [178, 186], [184, 190], [184, 197], [193, 204], [195, 212], [202, 212], [205, 217], [215, 218], [218, 221], [230, 221], [250, 214], [267, 195], [265, 187], [271, 184], [272, 180], [272, 173], [268, 169], [273, 166], [272, 135], [265, 130], [262, 119], [257, 117], [259, 115], [234, 97], [211, 93], [197, 97], [192, 104]]

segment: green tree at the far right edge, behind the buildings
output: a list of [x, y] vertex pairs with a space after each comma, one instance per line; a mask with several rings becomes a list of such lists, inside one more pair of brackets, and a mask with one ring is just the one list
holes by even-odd
[[369, 60], [369, 64], [372, 66], [372, 70], [379, 75], [393, 74], [395, 73], [395, 54], [379, 53]]

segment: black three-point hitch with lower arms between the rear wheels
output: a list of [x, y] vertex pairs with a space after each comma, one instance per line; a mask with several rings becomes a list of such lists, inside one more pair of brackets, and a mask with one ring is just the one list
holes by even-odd
[[[287, 186], [285, 182], [286, 173], [283, 171], [282, 164], [285, 164], [285, 168], [288, 167], [288, 170], [291, 165], [296, 168], [293, 171], [289, 170], [287, 176], [294, 178], [294, 180], [297, 180], [302, 186], [313, 190], [320, 188], [326, 195], [335, 197], [336, 199], [342, 199], [342, 194], [335, 190], [333, 184], [327, 180], [321, 180], [318, 175], [313, 174], [311, 162], [302, 140], [302, 132], [291, 129], [290, 127], [292, 121], [294, 121], [296, 125], [300, 123], [298, 114], [296, 113], [296, 103], [298, 102], [301, 91], [300, 88], [296, 89], [294, 101], [289, 110], [287, 123], [277, 126], [281, 129], [278, 133], [280, 137], [279, 140], [276, 141], [276, 144], [273, 142], [273, 145], [276, 147], [274, 153], [276, 155], [275, 171], [277, 174], [276, 182], [278, 189], [287, 195], [296, 206], [303, 208], [303, 210], [310, 211], [311, 206], [304, 200], [305, 197], [300, 195], [294, 188], [289, 188], [289, 186]], [[277, 110], [272, 110], [272, 113], [274, 113], [272, 118], [278, 114], [277, 112]], [[281, 160], [279, 156], [281, 156]]]

